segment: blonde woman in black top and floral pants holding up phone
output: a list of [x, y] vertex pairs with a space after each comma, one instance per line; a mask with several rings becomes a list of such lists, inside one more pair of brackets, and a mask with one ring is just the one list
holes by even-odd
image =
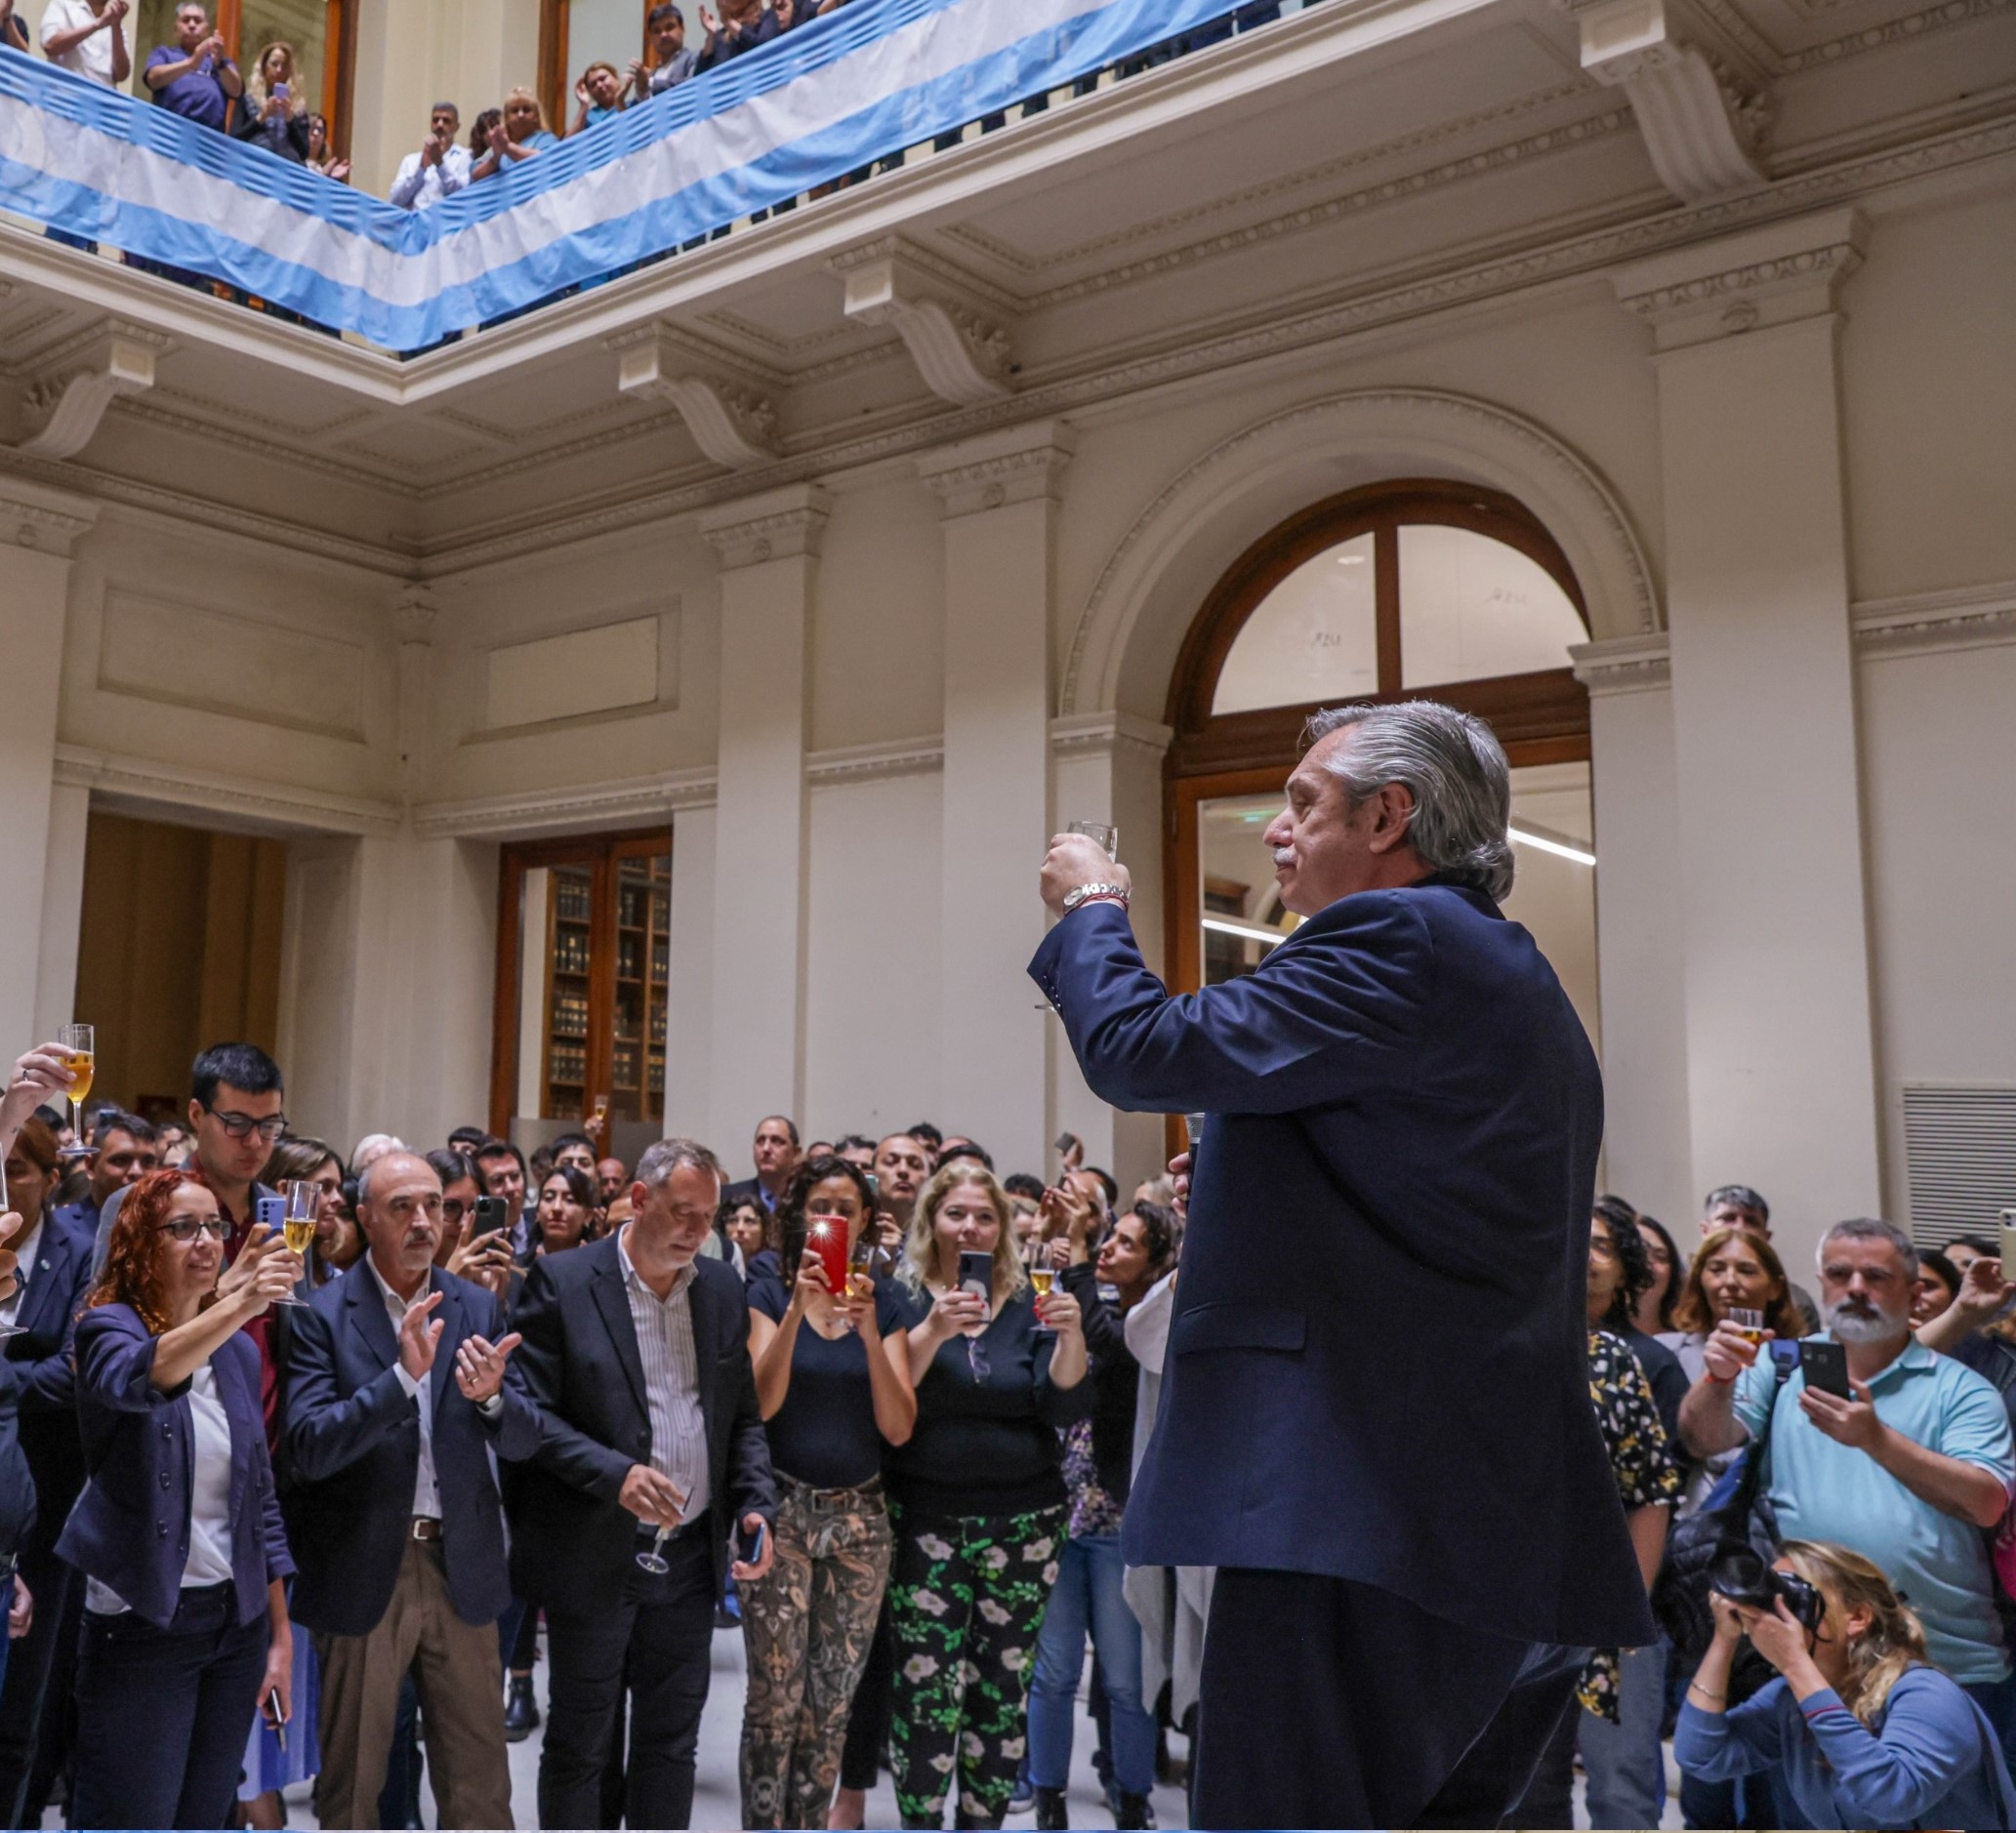
[[[960, 1260], [986, 1260], [988, 1297]], [[905, 1827], [998, 1827], [1066, 1526], [1058, 1432], [1091, 1410], [1079, 1301], [1032, 1299], [1008, 1196], [978, 1159], [923, 1188], [897, 1272], [917, 1430], [891, 1450], [897, 1670], [891, 1746]]]

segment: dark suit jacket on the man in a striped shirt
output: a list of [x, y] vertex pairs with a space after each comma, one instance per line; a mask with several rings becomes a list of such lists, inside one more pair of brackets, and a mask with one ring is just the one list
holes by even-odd
[[[770, 1440], [756, 1406], [748, 1297], [720, 1260], [694, 1260], [687, 1303], [708, 1428], [716, 1585], [728, 1531], [756, 1512], [774, 1524]], [[518, 1357], [542, 1414], [538, 1458], [518, 1480], [512, 1573], [518, 1595], [558, 1611], [609, 1607], [637, 1555], [641, 1522], [617, 1496], [631, 1464], [651, 1462], [643, 1357], [623, 1291], [617, 1236], [540, 1254], [512, 1313]]]

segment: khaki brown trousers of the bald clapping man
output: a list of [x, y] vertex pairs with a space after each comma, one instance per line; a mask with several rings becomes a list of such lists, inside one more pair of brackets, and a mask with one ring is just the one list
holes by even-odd
[[314, 1652], [323, 1662], [317, 1809], [325, 1827], [377, 1825], [407, 1670], [442, 1827], [512, 1825], [498, 1629], [456, 1615], [439, 1541], [407, 1541], [391, 1603], [369, 1635], [317, 1635]]

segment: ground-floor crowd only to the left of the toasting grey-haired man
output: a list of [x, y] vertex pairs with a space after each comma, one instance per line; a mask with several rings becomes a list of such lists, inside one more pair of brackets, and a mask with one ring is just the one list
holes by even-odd
[[[1167, 1180], [996, 1178], [917, 1125], [756, 1174], [480, 1127], [345, 1157], [218, 1045], [187, 1125], [0, 1097], [0, 1817], [687, 1825], [712, 1637], [748, 1827], [1066, 1825], [1085, 1649], [1121, 1827], [1167, 1670], [1123, 1595]], [[288, 1246], [284, 1218], [296, 1232]], [[548, 1694], [532, 1670], [544, 1627]], [[1165, 1768], [1167, 1773], [1167, 1768]]]

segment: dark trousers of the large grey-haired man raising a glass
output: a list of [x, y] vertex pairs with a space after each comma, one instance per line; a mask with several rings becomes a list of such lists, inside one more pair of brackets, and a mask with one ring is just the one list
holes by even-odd
[[1222, 1569], [1193, 1825], [1496, 1827], [1574, 1688], [1534, 1656], [1373, 1585]]

